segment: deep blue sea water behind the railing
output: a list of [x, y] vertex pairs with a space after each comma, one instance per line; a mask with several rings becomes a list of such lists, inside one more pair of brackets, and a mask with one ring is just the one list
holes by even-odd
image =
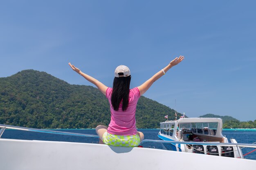
[[[72, 133], [92, 134], [95, 133], [95, 129], [54, 129], [55, 131], [66, 131]], [[156, 139], [159, 129], [138, 129], [144, 133], [145, 139]], [[228, 139], [234, 138], [238, 143], [252, 144], [256, 142], [256, 129], [224, 129], [222, 134]], [[82, 143], [98, 143], [97, 137], [79, 137], [70, 135], [56, 135], [50, 133], [37, 133], [29, 131], [18, 130], [5, 130], [2, 138], [7, 139], [28, 139], [28, 140], [47, 140], [47, 141], [63, 141], [63, 142], [82, 142]], [[159, 143], [144, 143], [144, 147], [163, 149], [162, 144]], [[254, 148], [243, 148], [243, 154], [249, 153]], [[245, 156], [246, 159], [256, 160], [256, 151]]]

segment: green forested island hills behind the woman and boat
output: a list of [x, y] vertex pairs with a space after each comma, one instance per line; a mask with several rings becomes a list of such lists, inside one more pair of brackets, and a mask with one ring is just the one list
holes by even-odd
[[[165, 115], [168, 120], [175, 119], [173, 109], [141, 96], [136, 112], [138, 128], [159, 128], [159, 122], [166, 120]], [[177, 117], [180, 116], [177, 113]], [[214, 116], [225, 120], [225, 116]], [[109, 122], [108, 100], [97, 88], [70, 85], [35, 70], [0, 78], [0, 124], [79, 129], [95, 128], [99, 124], [107, 126]], [[256, 128], [256, 120], [240, 122], [232, 118], [224, 121], [223, 128]]]

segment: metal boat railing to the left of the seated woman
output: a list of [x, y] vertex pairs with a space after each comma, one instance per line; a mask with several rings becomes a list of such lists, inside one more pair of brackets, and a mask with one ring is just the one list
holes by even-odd
[[34, 129], [34, 128], [11, 126], [11, 125], [4, 125], [4, 124], [0, 124], [0, 128], [1, 128], [0, 129], [0, 138], [1, 138], [2, 134], [4, 133], [5, 129], [14, 129], [14, 130], [31, 131], [31, 132], [39, 132], [39, 133], [52, 133], [52, 134], [57, 134], [57, 135], [71, 135], [71, 136], [81, 136], [81, 137], [99, 137], [98, 135], [63, 132], [63, 131], [52, 131], [52, 130], [46, 130], [46, 129]]

